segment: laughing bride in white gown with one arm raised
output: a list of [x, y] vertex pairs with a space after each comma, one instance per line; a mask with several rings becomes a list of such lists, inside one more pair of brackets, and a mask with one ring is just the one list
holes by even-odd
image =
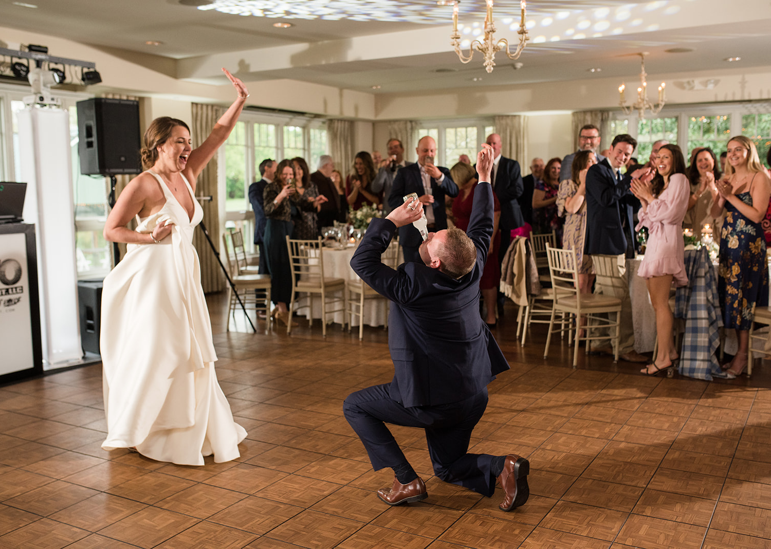
[[[167, 116], [144, 135], [146, 171], [121, 192], [104, 227], [128, 253], [104, 280], [100, 346], [107, 438], [104, 450], [136, 449], [180, 465], [233, 460], [246, 431], [217, 383], [217, 355], [200, 264], [192, 244], [204, 217], [196, 179], [233, 130], [249, 93], [222, 69], [237, 99], [193, 149], [190, 129]], [[126, 224], [137, 217], [136, 231]]]

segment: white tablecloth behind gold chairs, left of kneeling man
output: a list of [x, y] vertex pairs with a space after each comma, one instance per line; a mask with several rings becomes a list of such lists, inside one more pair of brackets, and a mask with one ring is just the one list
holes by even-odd
[[[356, 251], [356, 247], [349, 245], [348, 248], [339, 250], [337, 248], [324, 248], [324, 276], [325, 278], [344, 278], [348, 282], [359, 282], [361, 279], [356, 276], [355, 272], [351, 268], [351, 258], [353, 252]], [[308, 308], [308, 298], [304, 297], [298, 301], [296, 308], [305, 307], [300, 309], [301, 314], [304, 314], [306, 318], [322, 318], [322, 301], [318, 296], [313, 297], [313, 305]], [[364, 301], [364, 324], [368, 326], [384, 326], [386, 312], [388, 311], [389, 301], [385, 298], [378, 299], [365, 299]], [[338, 308], [334, 305], [333, 308]], [[347, 314], [343, 315], [342, 312], [336, 312], [334, 315], [334, 322], [342, 324], [343, 320], [348, 322]], [[353, 318], [353, 325], [359, 325], [359, 317]]]

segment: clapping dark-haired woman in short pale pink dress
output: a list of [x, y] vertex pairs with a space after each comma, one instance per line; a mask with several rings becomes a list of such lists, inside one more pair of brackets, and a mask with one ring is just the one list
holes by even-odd
[[631, 191], [640, 199], [640, 222], [636, 229], [648, 227], [648, 245], [638, 275], [645, 278], [651, 304], [656, 312], [658, 354], [653, 363], [640, 372], [655, 376], [672, 367], [678, 352], [672, 340], [672, 311], [669, 309], [669, 289], [672, 284], [685, 286], [685, 243], [682, 240], [682, 220], [688, 211], [691, 187], [685, 177], [685, 160], [677, 145], [664, 145], [658, 150], [656, 174], [635, 179]]

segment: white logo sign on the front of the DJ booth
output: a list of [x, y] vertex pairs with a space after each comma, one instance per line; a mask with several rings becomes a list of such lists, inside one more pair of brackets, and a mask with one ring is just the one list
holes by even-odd
[[0, 376], [35, 365], [26, 234], [0, 234]]

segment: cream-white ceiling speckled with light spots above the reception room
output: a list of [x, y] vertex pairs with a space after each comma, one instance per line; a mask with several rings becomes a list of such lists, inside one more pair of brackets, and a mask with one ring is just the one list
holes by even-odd
[[[437, 6], [435, 0], [252, 0], [251, 4], [283, 5], [289, 10], [285, 15], [342, 5], [348, 17], [341, 20], [231, 15], [183, 5], [209, 1], [0, 0], [0, 25], [71, 39], [138, 62], [152, 59], [148, 55], [173, 59], [153, 65], [190, 81], [225, 83], [219, 69], [226, 66], [247, 81], [298, 79], [370, 93], [607, 76], [633, 82], [639, 72], [636, 52], [648, 52], [651, 81], [657, 73], [726, 69], [724, 59], [735, 56], [741, 60], [731, 68], [753, 71], [771, 65], [769, 0], [530, 0], [530, 44], [518, 60], [523, 67], [514, 70], [513, 61], [500, 52], [492, 74], [484, 71], [479, 53], [470, 64], [460, 63], [449, 45], [452, 8]], [[38, 7], [18, 5], [25, 3]], [[483, 0], [463, 0], [460, 22], [469, 26], [483, 22], [483, 5]], [[516, 28], [511, 30], [503, 19], [516, 21], [519, 5], [519, 0], [495, 2], [496, 38], [516, 42]], [[390, 15], [406, 21], [387, 21], [388, 14], [372, 21], [351, 19], [366, 15], [372, 6], [386, 12], [392, 8]], [[294, 26], [275, 29], [277, 21]], [[578, 38], [580, 33], [586, 37]], [[163, 44], [146, 45], [148, 40]], [[689, 51], [666, 51], [671, 49]], [[601, 72], [588, 72], [591, 68]]]

